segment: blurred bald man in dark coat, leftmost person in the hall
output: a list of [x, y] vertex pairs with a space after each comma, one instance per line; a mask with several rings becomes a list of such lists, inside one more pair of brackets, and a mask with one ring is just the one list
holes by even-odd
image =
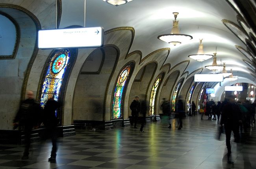
[[33, 92], [28, 91], [27, 99], [20, 103], [19, 111], [13, 120], [14, 128], [18, 125], [24, 127], [25, 150], [21, 158], [22, 160], [28, 159], [31, 131], [33, 126], [38, 125], [40, 113], [40, 104], [35, 101]]

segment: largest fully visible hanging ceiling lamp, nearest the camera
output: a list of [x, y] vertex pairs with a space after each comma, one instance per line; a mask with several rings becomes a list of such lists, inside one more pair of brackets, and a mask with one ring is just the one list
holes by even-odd
[[178, 14], [179, 14], [178, 12], [173, 13], [174, 20], [173, 20], [173, 28], [171, 30], [171, 33], [165, 34], [165, 35], [159, 35], [157, 37], [158, 39], [163, 40], [169, 44], [173, 44], [174, 46], [176, 44], [181, 44], [184, 41], [193, 39], [193, 37], [190, 35], [180, 34], [180, 30], [178, 28], [179, 21], [176, 20]]

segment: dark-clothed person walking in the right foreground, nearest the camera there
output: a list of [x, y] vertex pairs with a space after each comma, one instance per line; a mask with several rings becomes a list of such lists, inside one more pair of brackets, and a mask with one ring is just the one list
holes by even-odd
[[230, 137], [231, 131], [234, 133], [235, 142], [239, 142], [239, 123], [241, 123], [241, 112], [237, 104], [235, 104], [235, 97], [229, 96], [223, 105], [223, 111], [221, 114], [221, 125], [224, 125], [226, 134], [226, 147], [228, 150], [228, 163], [234, 163], [230, 161], [231, 144]]

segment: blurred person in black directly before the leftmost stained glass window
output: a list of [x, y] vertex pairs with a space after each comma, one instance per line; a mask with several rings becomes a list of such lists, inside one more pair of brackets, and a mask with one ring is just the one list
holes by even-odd
[[58, 126], [58, 119], [56, 117], [56, 109], [60, 107], [58, 101], [55, 101], [54, 98], [48, 99], [45, 104], [44, 115], [45, 115], [45, 127], [46, 133], [52, 139], [52, 152], [49, 161], [56, 160], [56, 152], [57, 152], [57, 126]]

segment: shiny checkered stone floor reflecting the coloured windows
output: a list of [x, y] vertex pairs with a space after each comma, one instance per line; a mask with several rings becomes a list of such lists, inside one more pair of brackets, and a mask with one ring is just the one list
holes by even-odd
[[76, 136], [59, 138], [55, 162], [48, 162], [51, 142], [36, 142], [28, 160], [24, 147], [0, 145], [0, 169], [255, 169], [256, 132], [243, 134], [245, 143], [234, 143], [228, 164], [224, 136], [215, 139], [217, 122], [197, 115], [184, 119], [178, 130], [164, 121], [147, 123], [145, 132], [130, 127], [110, 131], [77, 130]]

